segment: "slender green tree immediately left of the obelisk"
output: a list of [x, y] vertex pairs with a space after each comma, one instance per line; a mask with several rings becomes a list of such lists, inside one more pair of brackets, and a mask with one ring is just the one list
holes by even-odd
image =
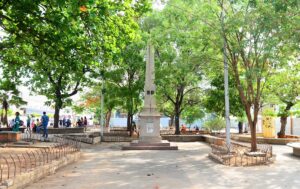
[[145, 43], [137, 40], [128, 45], [120, 53], [119, 62], [106, 73], [109, 85], [116, 86], [115, 98], [122, 98], [121, 107], [127, 112], [127, 130], [131, 131], [133, 115], [142, 104], [141, 93], [144, 87], [145, 62], [143, 48]]

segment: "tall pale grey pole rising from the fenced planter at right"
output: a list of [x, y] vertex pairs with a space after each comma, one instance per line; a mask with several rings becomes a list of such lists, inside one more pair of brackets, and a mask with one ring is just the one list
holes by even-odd
[[228, 90], [228, 62], [227, 62], [227, 42], [225, 38], [224, 28], [224, 0], [222, 0], [222, 12], [221, 12], [221, 29], [223, 36], [223, 59], [224, 59], [224, 93], [225, 93], [225, 119], [226, 119], [226, 144], [230, 145], [230, 119], [229, 119], [229, 90]]

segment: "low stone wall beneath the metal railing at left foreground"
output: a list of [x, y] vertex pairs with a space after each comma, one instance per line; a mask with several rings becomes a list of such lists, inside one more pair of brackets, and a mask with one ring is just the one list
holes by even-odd
[[79, 160], [80, 155], [81, 155], [80, 152], [68, 154], [67, 156], [62, 157], [59, 160], [55, 160], [49, 164], [36, 167], [30, 172], [17, 175], [13, 180], [6, 182], [6, 183], [12, 184], [12, 185], [7, 186], [6, 188], [7, 189], [24, 188], [25, 186], [28, 186], [31, 183], [36, 182], [40, 179], [43, 179], [44, 177], [46, 177], [50, 174], [54, 174], [58, 169]]

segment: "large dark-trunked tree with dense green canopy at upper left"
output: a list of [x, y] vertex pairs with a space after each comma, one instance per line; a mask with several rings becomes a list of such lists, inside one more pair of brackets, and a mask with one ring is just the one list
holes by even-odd
[[30, 60], [32, 90], [59, 111], [86, 85], [88, 72], [135, 38], [147, 1], [22, 1], [3, 4], [2, 28]]

